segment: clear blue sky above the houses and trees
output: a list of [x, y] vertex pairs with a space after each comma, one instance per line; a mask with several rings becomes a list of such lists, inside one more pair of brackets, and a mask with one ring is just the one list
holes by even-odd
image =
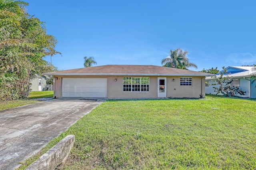
[[[203, 68], [256, 64], [255, 0], [24, 0], [58, 40], [60, 70], [97, 65], [161, 66], [170, 50]], [[50, 61], [50, 57], [46, 57]]]

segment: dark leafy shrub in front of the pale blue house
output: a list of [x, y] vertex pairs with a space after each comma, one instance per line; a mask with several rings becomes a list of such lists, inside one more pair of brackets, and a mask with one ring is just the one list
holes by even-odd
[[[222, 94], [224, 97], [234, 97], [236, 94], [244, 95], [246, 92], [241, 90], [239, 87], [231, 86], [233, 82], [232, 77], [228, 75], [227, 69], [222, 67], [224, 71], [218, 76], [214, 76], [218, 87], [213, 87], [216, 94]], [[211, 85], [217, 85], [211, 84]]]

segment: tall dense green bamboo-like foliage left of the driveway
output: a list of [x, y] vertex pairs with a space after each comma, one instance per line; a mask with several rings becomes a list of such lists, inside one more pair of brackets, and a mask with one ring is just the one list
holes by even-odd
[[0, 1], [0, 100], [26, 98], [30, 80], [48, 65], [43, 59], [55, 51], [57, 40], [46, 33], [38, 18], [30, 16], [16, 0]]

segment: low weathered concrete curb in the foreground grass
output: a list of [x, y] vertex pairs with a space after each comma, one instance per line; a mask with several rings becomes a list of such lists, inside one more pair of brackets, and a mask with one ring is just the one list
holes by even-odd
[[66, 136], [25, 170], [54, 170], [56, 166], [66, 161], [74, 143], [74, 135]]

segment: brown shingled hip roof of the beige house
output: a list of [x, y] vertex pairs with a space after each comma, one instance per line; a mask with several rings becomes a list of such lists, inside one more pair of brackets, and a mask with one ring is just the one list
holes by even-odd
[[154, 65], [103, 65], [48, 72], [45, 75], [214, 76], [215, 74]]

